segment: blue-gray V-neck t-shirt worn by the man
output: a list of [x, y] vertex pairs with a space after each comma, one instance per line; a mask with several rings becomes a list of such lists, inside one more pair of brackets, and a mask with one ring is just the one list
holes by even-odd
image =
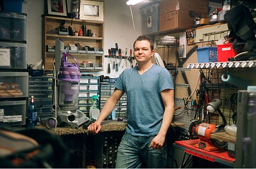
[[133, 136], [157, 135], [165, 109], [160, 92], [174, 89], [168, 70], [155, 64], [142, 75], [137, 67], [125, 69], [115, 87], [127, 94], [126, 131]]

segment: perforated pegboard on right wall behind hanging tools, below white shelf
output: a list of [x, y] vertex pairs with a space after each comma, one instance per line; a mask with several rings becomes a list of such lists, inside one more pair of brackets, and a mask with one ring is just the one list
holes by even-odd
[[[224, 117], [226, 119], [226, 124], [231, 125], [235, 123], [235, 118], [233, 117], [233, 114], [236, 112], [237, 106], [237, 98], [236, 94], [238, 90], [245, 90], [242, 88], [239, 88], [235, 85], [231, 85], [230, 83], [222, 81], [222, 74], [223, 73], [230, 73], [231, 75], [240, 77], [241, 79], [245, 79], [247, 81], [250, 81], [252, 85], [256, 85], [256, 68], [209, 68], [209, 69], [202, 69], [203, 73], [206, 75], [206, 78], [210, 80], [211, 82], [207, 82], [206, 86], [208, 88], [208, 94], [210, 102], [214, 101], [215, 99], [219, 98], [222, 100], [222, 106], [219, 107], [220, 111], [224, 114]], [[195, 81], [196, 75], [194, 74], [193, 79]], [[176, 84], [179, 84], [177, 82], [181, 82], [177, 80], [176, 77]], [[195, 84], [195, 83], [194, 83]], [[189, 85], [189, 88], [191, 92], [193, 92], [193, 88], [195, 85]], [[176, 110], [175, 114], [179, 114], [178, 116], [174, 116], [174, 120], [177, 122], [184, 123], [184, 128], [189, 129], [189, 125], [191, 124], [191, 119], [194, 119], [194, 110], [193, 108], [185, 109], [184, 107], [184, 101], [183, 98], [179, 97], [186, 97], [187, 95], [184, 94], [185, 89], [176, 87], [176, 98], [175, 98], [175, 106], [183, 106], [181, 109]], [[177, 91], [179, 90], [179, 91]], [[178, 93], [178, 94], [177, 94]], [[181, 94], [182, 93], [182, 94]], [[178, 97], [179, 96], [179, 97]], [[193, 95], [192, 97], [193, 98]], [[190, 100], [191, 100], [190, 98]], [[232, 98], [232, 99], [231, 99]], [[191, 105], [191, 101], [188, 101], [188, 105]], [[189, 107], [189, 106], [188, 106]], [[206, 105], [205, 105], [206, 107]], [[206, 114], [206, 110], [203, 111], [204, 114]], [[219, 112], [209, 113], [209, 118], [211, 124], [214, 125], [220, 125], [223, 124], [223, 119], [220, 116]], [[174, 159], [176, 159], [178, 163], [178, 167], [181, 166], [182, 160], [183, 160], [184, 152], [182, 150], [175, 150]], [[177, 167], [177, 166], [176, 166]]]

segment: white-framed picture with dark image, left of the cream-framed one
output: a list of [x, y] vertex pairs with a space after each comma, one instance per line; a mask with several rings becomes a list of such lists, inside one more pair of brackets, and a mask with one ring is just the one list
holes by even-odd
[[67, 0], [45, 0], [46, 14], [67, 17]]

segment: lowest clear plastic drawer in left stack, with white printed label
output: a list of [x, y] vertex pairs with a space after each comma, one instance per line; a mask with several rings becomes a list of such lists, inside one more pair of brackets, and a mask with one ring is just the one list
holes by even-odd
[[26, 100], [0, 101], [0, 128], [26, 124]]

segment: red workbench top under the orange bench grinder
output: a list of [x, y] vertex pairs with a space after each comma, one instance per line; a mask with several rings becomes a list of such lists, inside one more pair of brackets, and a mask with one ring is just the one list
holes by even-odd
[[[185, 155], [188, 154], [189, 156], [188, 156], [187, 160], [189, 158], [191, 158], [191, 156], [197, 156], [199, 158], [202, 158], [202, 159], [205, 159], [208, 161], [219, 162], [220, 164], [228, 165], [230, 167], [235, 167], [235, 158], [231, 158], [228, 155], [227, 150], [219, 149], [219, 150], [214, 150], [212, 152], [208, 152], [204, 149], [197, 148], [194, 146], [199, 141], [200, 141], [200, 139], [183, 140], [183, 141], [174, 142], [172, 156], [174, 156], [174, 149], [178, 148], [178, 149], [184, 150], [184, 158], [182, 161], [182, 166], [184, 165]], [[173, 167], [174, 167], [174, 158], [172, 158], [172, 168]]]

